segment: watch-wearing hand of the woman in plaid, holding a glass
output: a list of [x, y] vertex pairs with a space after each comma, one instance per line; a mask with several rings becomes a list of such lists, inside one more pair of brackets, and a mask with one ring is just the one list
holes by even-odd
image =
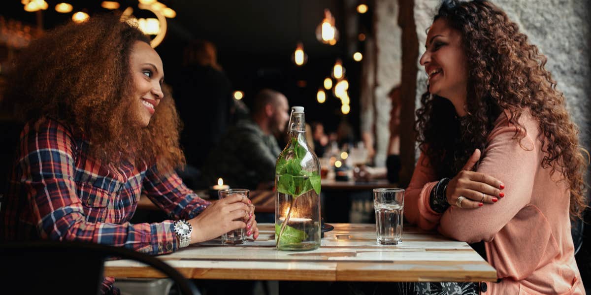
[[214, 201], [196, 218], [191, 219], [191, 244], [217, 238], [234, 229], [246, 228], [244, 220], [248, 221], [251, 208], [243, 200], [242, 195], [236, 194]]

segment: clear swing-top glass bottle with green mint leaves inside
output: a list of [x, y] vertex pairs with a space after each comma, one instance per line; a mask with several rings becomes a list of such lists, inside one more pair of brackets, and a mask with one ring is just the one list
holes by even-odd
[[304, 108], [291, 108], [290, 139], [275, 164], [275, 246], [320, 247], [320, 161], [306, 141]]

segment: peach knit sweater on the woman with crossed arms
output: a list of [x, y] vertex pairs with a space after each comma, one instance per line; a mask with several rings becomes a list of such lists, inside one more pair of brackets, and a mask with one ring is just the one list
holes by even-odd
[[[458, 241], [485, 241], [488, 262], [500, 283], [482, 294], [584, 294], [570, 234], [570, 191], [561, 174], [541, 166], [544, 153], [530, 112], [519, 119], [527, 135], [512, 139], [515, 127], [501, 114], [486, 142], [478, 172], [505, 184], [505, 197], [478, 209], [431, 210], [429, 195], [439, 181], [421, 154], [405, 193], [405, 218]], [[568, 163], [567, 163], [568, 164]]]

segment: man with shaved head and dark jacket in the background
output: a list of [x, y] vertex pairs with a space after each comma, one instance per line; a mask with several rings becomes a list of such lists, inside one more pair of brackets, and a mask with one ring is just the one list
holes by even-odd
[[209, 183], [222, 178], [231, 187], [272, 187], [275, 162], [281, 153], [275, 135], [290, 119], [287, 98], [263, 89], [254, 99], [251, 118], [236, 122], [207, 157], [204, 174]]

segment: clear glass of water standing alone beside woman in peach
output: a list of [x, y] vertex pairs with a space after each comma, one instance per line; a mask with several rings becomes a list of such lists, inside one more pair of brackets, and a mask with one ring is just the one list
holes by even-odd
[[402, 240], [404, 189], [374, 189], [374, 210], [378, 244], [397, 245]]

